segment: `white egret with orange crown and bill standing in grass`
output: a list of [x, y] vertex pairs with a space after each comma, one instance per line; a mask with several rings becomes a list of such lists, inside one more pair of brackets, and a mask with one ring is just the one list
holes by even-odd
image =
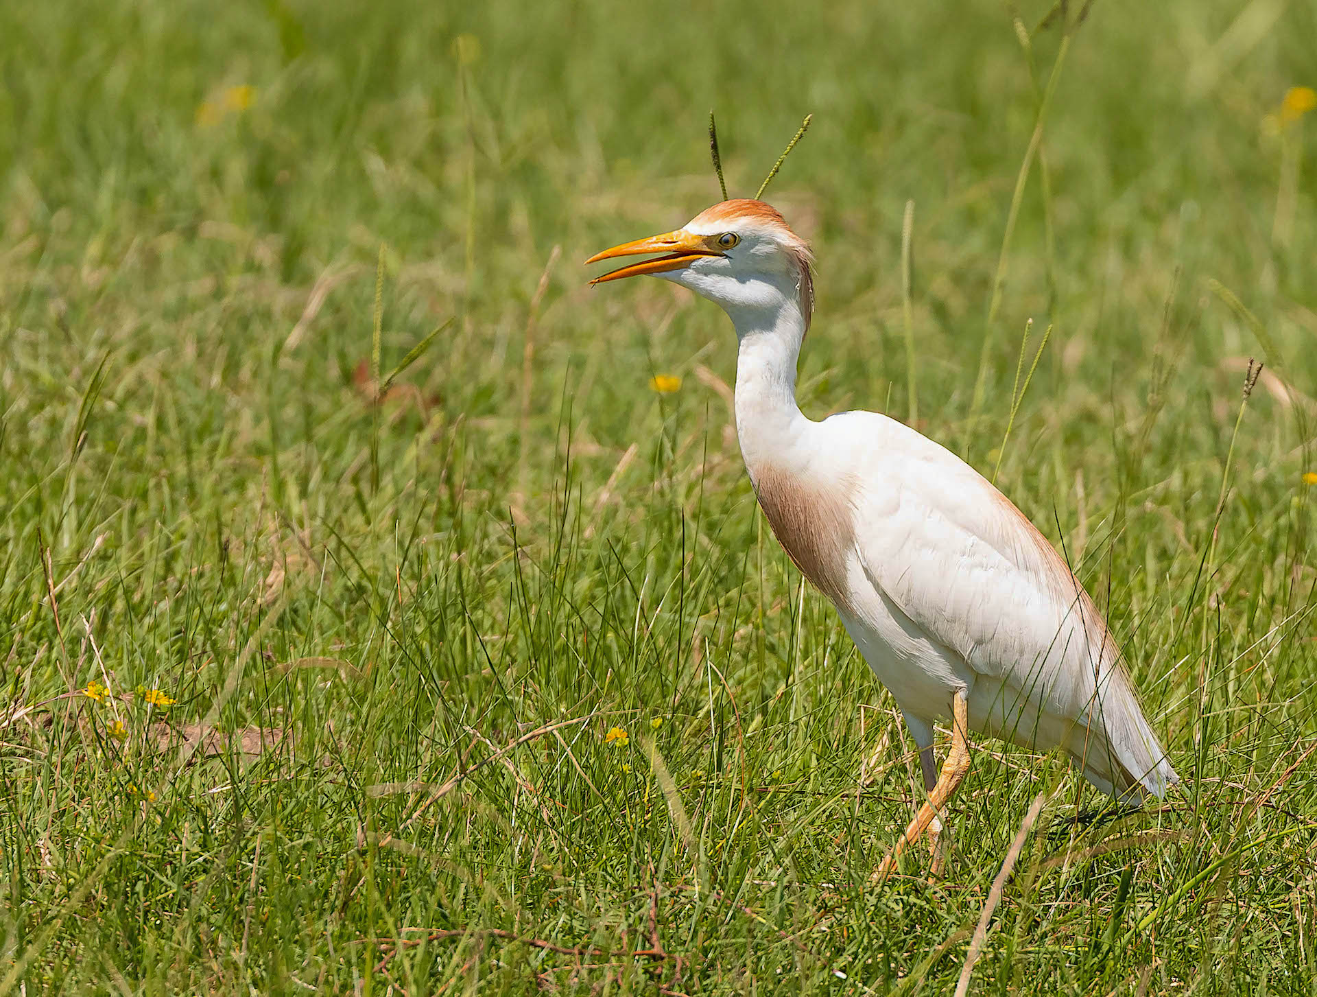
[[[736, 436], [773, 533], [836, 607], [919, 748], [927, 801], [876, 876], [930, 830], [969, 770], [967, 732], [1063, 749], [1119, 799], [1179, 781], [1101, 612], [1056, 549], [986, 478], [877, 412], [822, 421], [795, 403], [814, 310], [809, 244], [761, 200], [714, 204], [685, 228], [586, 263], [658, 256], [591, 283], [651, 274], [719, 304], [736, 327]], [[940, 774], [932, 730], [951, 716]]]

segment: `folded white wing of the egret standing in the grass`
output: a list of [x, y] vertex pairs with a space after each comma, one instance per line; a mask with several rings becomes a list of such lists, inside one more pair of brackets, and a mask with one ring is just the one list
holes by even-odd
[[856, 507], [868, 579], [977, 676], [1008, 687], [1017, 711], [1027, 703], [1098, 734], [1146, 785], [1164, 765], [1160, 748], [1102, 615], [1065, 561], [973, 468], [881, 421]]

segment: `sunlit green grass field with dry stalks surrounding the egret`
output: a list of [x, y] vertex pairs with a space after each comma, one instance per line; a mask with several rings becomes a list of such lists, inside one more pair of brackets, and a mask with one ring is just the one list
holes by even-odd
[[[0, 989], [950, 993], [1047, 793], [971, 993], [1317, 993], [1317, 8], [1096, 4], [1026, 157], [1044, 13], [0, 5]], [[731, 328], [579, 266], [716, 198], [711, 105], [734, 196], [815, 115], [806, 412], [1000, 465], [1183, 794], [981, 743], [869, 884], [913, 745]]]

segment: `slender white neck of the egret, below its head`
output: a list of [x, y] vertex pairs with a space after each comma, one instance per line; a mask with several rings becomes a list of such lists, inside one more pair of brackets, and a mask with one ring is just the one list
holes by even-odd
[[727, 307], [740, 350], [736, 357], [736, 437], [751, 479], [765, 465], [793, 470], [813, 423], [795, 404], [795, 362], [805, 315], [795, 288], [780, 288], [755, 307]]

